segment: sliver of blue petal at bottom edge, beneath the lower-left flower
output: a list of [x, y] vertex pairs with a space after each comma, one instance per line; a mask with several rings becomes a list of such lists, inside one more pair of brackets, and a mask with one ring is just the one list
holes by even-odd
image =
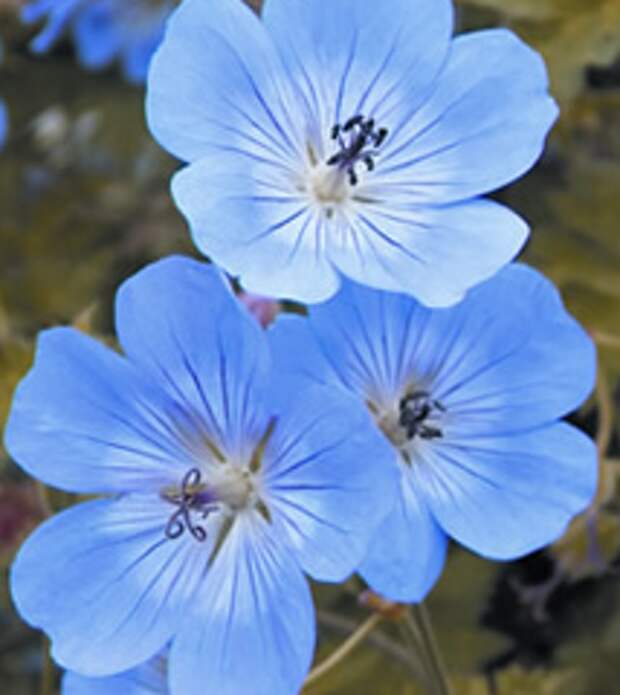
[[67, 671], [61, 695], [168, 695], [164, 658], [157, 656], [131, 671], [115, 676], [92, 678]]

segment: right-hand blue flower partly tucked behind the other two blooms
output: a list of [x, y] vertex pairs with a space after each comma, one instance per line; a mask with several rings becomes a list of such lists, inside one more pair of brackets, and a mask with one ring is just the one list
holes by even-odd
[[270, 334], [281, 369], [356, 395], [393, 445], [400, 494], [361, 566], [379, 593], [421, 599], [447, 537], [529, 553], [591, 499], [595, 447], [558, 419], [592, 389], [595, 351], [534, 270], [508, 266], [449, 309], [347, 283]]

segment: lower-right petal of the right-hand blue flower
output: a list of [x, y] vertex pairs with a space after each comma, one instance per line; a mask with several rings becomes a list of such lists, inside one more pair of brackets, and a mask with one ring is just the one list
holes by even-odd
[[565, 423], [515, 435], [444, 439], [424, 447], [420, 457], [419, 478], [439, 524], [497, 560], [559, 538], [596, 489], [596, 447]]

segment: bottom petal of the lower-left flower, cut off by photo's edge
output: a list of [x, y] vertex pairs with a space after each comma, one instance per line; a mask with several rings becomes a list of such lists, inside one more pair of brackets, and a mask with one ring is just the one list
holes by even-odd
[[173, 643], [172, 692], [299, 692], [312, 659], [314, 610], [299, 567], [275, 538], [257, 517], [237, 518]]

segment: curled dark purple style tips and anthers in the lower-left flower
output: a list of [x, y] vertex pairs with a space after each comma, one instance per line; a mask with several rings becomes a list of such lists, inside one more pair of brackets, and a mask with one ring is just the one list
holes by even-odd
[[218, 505], [209, 500], [205, 494], [207, 486], [202, 482], [202, 476], [197, 468], [190, 468], [183, 476], [180, 491], [165, 491], [162, 498], [174, 504], [176, 509], [168, 519], [164, 533], [166, 538], [175, 540], [183, 535], [187, 529], [190, 534], [200, 542], [207, 539], [207, 531], [204, 526], [196, 524], [192, 514], [197, 513], [199, 518], [206, 519]]

